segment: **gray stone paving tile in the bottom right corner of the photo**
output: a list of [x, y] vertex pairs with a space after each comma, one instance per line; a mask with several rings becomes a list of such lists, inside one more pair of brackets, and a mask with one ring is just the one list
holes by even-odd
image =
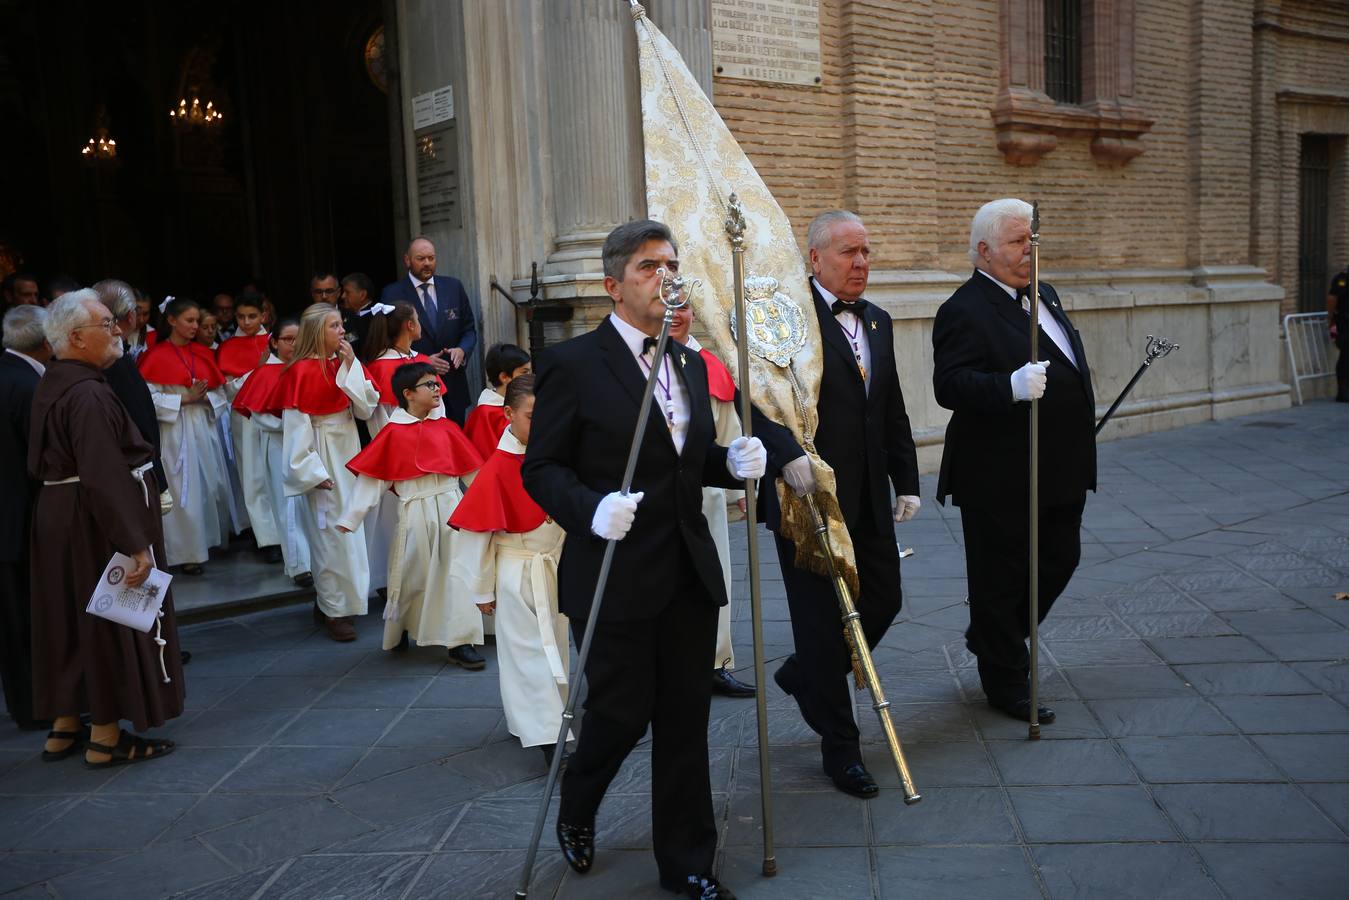
[[1344, 900], [1349, 853], [1342, 843], [1201, 843], [1209, 872], [1233, 900]]

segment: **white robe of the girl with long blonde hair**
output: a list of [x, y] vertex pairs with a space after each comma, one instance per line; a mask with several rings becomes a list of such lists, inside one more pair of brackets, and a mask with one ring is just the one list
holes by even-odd
[[[286, 460], [287, 497], [304, 497], [304, 528], [310, 534], [310, 561], [318, 609], [329, 618], [364, 615], [370, 594], [370, 560], [366, 533], [357, 525], [351, 534], [337, 530], [337, 515], [351, 502], [356, 487], [347, 461], [360, 452], [360, 439], [352, 416], [368, 418], [379, 393], [366, 381], [360, 363], [343, 363], [337, 386], [351, 406], [329, 416], [309, 416], [298, 409], [282, 410], [282, 453]], [[318, 484], [332, 479], [331, 491]]]

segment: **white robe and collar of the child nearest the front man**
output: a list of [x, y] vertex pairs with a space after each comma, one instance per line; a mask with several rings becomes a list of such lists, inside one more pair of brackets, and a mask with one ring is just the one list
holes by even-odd
[[[502, 449], [523, 453], [506, 430]], [[567, 534], [553, 521], [533, 532], [459, 532], [452, 564], [476, 603], [496, 600], [496, 668], [506, 727], [532, 748], [557, 741], [567, 702], [567, 617], [557, 611], [557, 560]], [[569, 735], [568, 735], [569, 737]]]

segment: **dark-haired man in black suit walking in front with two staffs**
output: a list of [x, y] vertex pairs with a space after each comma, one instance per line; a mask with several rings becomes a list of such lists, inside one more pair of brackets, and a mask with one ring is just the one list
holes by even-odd
[[[534, 359], [534, 420], [525, 488], [565, 530], [558, 606], [580, 645], [607, 540], [618, 540], [585, 661], [585, 715], [563, 777], [557, 837], [568, 864], [594, 860], [595, 814], [633, 746], [652, 727], [652, 823], [661, 885], [733, 900], [711, 876], [716, 853], [707, 762], [720, 563], [703, 518], [703, 486], [738, 487], [764, 474], [757, 439], [715, 440], [703, 359], [670, 344], [656, 360], [664, 306], [657, 274], [679, 270], [674, 239], [656, 221], [627, 223], [604, 242], [614, 312]], [[648, 339], [652, 339], [648, 341]], [[619, 493], [648, 372], [654, 402], [633, 494]]]

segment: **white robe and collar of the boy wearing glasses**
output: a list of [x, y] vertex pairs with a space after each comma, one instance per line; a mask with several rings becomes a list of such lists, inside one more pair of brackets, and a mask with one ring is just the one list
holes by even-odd
[[[397, 409], [391, 424], [417, 418]], [[390, 491], [390, 487], [397, 494]], [[403, 631], [418, 646], [483, 642], [483, 615], [465, 591], [453, 590], [449, 561], [457, 533], [449, 517], [463, 497], [459, 479], [422, 475], [406, 482], [356, 476], [356, 488], [339, 522], [355, 530], [382, 498], [393, 498], [397, 522], [389, 544], [389, 598], [384, 602], [384, 649], [398, 646]]]

